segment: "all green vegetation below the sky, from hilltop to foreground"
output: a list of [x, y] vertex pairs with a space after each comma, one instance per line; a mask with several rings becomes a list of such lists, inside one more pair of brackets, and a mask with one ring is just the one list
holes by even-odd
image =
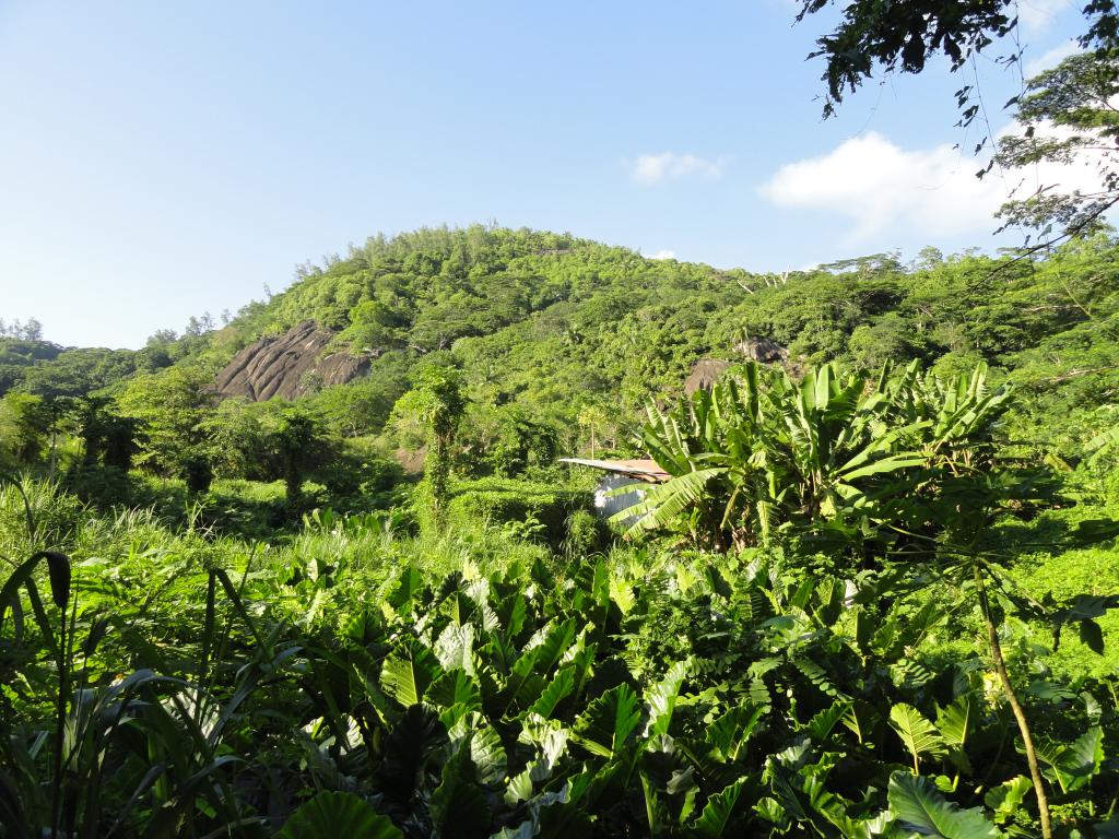
[[[0, 839], [1112, 835], [1117, 257], [425, 229], [0, 339]], [[368, 371], [218, 398], [308, 320]]]

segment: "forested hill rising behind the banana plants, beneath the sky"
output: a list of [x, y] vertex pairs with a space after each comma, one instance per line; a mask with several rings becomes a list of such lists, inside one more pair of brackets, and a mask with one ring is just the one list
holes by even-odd
[[[571, 450], [595, 422], [624, 445], [649, 397], [678, 393], [702, 357], [733, 360], [746, 334], [781, 343], [793, 365], [920, 359], [956, 371], [986, 360], [1026, 396], [1022, 435], [1074, 451], [1119, 392], [1117, 257], [1101, 235], [1044, 258], [927, 249], [909, 265], [876, 255], [778, 276], [567, 234], [422, 229], [301, 267], [286, 291], [225, 326], [191, 319], [182, 337], [157, 333], [137, 352], [0, 339], [0, 387], [46, 397], [107, 388], [143, 416], [145, 399], [175, 387], [205, 398], [239, 349], [311, 319], [336, 333], [325, 352], [369, 359], [368, 375], [345, 386], [307, 383], [301, 404], [338, 435], [382, 434], [417, 366], [438, 364], [463, 370], [479, 450], [509, 423], [549, 427]], [[242, 408], [222, 411], [232, 421]]]

